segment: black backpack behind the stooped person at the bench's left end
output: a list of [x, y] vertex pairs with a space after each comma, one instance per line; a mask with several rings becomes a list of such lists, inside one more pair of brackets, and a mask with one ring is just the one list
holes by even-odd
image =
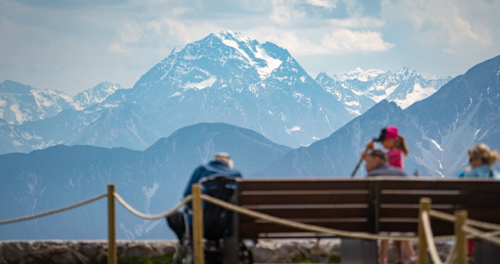
[[[222, 201], [231, 201], [235, 194], [236, 180], [234, 177], [214, 176], [200, 180], [204, 194], [213, 196]], [[218, 240], [230, 234], [232, 227], [232, 210], [216, 206], [213, 203], [203, 202], [203, 224], [205, 238]]]

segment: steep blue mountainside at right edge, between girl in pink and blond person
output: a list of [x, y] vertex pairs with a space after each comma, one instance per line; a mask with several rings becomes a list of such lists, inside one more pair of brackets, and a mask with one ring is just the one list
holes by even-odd
[[500, 56], [475, 65], [428, 99], [408, 107], [423, 144], [421, 163], [442, 175], [467, 165], [467, 149], [478, 142], [500, 149]]

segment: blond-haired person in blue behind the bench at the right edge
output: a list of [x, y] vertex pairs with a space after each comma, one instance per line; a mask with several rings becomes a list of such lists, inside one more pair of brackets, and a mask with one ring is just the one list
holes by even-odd
[[470, 166], [458, 173], [458, 177], [498, 178], [493, 169], [499, 159], [498, 151], [491, 151], [486, 144], [477, 144], [469, 149]]

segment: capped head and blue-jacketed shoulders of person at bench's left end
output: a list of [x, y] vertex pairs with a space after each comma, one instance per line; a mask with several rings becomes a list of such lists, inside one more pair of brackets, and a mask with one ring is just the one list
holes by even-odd
[[242, 174], [233, 168], [232, 159], [228, 153], [218, 152], [213, 155], [212, 161], [206, 165], [200, 165], [194, 170], [184, 191], [184, 197], [191, 194], [192, 184], [209, 176], [242, 177]]

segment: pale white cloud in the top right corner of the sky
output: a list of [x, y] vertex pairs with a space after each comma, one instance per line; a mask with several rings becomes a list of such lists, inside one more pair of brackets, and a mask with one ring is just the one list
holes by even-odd
[[[500, 1], [382, 1], [383, 15], [392, 23], [408, 21], [428, 45], [446, 50], [470, 49], [470, 44], [493, 44], [492, 32], [498, 18], [492, 10], [500, 10]], [[411, 29], [409, 29], [411, 30]], [[498, 34], [497, 34], [498, 35]]]

